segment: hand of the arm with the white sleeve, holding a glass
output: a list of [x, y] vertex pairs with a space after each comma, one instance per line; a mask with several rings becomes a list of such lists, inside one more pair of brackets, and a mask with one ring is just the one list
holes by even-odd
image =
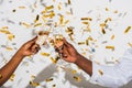
[[59, 53], [64, 61], [68, 63], [76, 63], [79, 53], [65, 38], [63, 38], [63, 42], [64, 42], [63, 48], [59, 50], [59, 47], [55, 47], [55, 50]]

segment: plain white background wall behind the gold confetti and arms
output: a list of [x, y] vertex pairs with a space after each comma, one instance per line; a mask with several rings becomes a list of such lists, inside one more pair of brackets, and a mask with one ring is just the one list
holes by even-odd
[[[35, 1], [37, 8], [34, 7]], [[37, 31], [40, 28], [31, 26], [26, 29], [25, 26], [20, 25], [20, 22], [29, 24], [34, 22], [36, 14], [41, 14], [41, 11], [44, 10], [44, 7], [40, 4], [40, 1], [41, 0], [0, 0], [0, 29], [2, 26], [8, 26], [8, 30], [15, 35], [12, 41], [9, 41], [6, 34], [0, 33], [0, 45], [19, 48], [23, 43], [34, 36], [32, 35], [33, 30]], [[65, 15], [65, 19], [69, 20], [69, 23], [62, 28], [61, 33], [68, 40], [68, 42], [75, 45], [79, 53], [86, 52], [86, 57], [90, 58], [90, 55], [92, 56], [90, 59], [108, 65], [107, 62], [114, 62], [122, 56], [127, 48], [130, 47], [128, 43], [132, 43], [132, 30], [127, 34], [124, 34], [124, 30], [132, 25], [131, 0], [72, 0], [72, 6], [68, 6], [67, 8], [64, 4], [67, 0], [55, 1], [56, 2], [53, 2], [53, 0], [43, 0], [47, 6], [53, 4], [56, 7], [59, 2], [63, 3], [63, 9], [61, 11], [57, 10], [57, 8], [54, 9], [56, 14], [61, 13]], [[19, 7], [23, 6], [25, 9], [19, 9]], [[32, 12], [31, 8], [34, 9], [34, 12]], [[69, 11], [70, 8], [73, 9], [73, 15], [67, 15], [66, 11]], [[106, 8], [108, 8], [109, 11], [106, 11]], [[16, 11], [12, 12], [14, 9]], [[118, 13], [114, 13], [114, 11], [118, 11]], [[92, 21], [90, 22], [91, 32], [85, 32], [82, 34], [82, 28], [85, 28], [85, 25], [81, 24], [80, 19], [84, 16], [92, 18]], [[108, 22], [109, 29], [106, 30], [106, 34], [102, 34], [99, 25], [105, 22], [107, 18], [111, 18], [112, 21]], [[7, 22], [8, 20], [13, 21], [14, 23], [9, 23]], [[58, 15], [53, 18], [53, 23], [54, 22], [58, 22]], [[75, 28], [75, 42], [70, 41], [67, 33], [65, 33], [67, 26]], [[114, 40], [110, 40], [113, 34], [116, 36]], [[97, 40], [97, 42], [90, 42], [89, 46], [77, 44], [78, 42], [85, 41], [88, 36]], [[102, 44], [105, 41], [107, 41], [107, 43]], [[16, 45], [12, 45], [12, 43], [16, 43]], [[96, 47], [96, 45], [98, 45], [98, 47]], [[113, 52], [106, 50], [106, 45], [114, 45], [116, 50]], [[85, 51], [86, 48], [89, 51], [95, 48], [96, 52]], [[51, 56], [54, 56], [53, 47], [50, 47], [48, 50], [42, 48], [41, 51], [51, 53]], [[6, 48], [0, 47], [0, 52], [7, 61], [10, 61], [16, 50], [7, 51]], [[89, 84], [88, 75], [78, 69], [75, 65], [66, 64], [65, 70], [57, 66], [61, 66], [61, 64], [53, 64], [50, 57], [44, 57], [40, 53], [36, 54], [33, 59], [26, 57], [15, 70], [14, 80], [9, 80], [6, 82], [4, 87], [30, 88], [31, 86], [29, 85], [29, 81], [31, 80], [31, 76], [34, 75], [36, 76], [34, 81], [43, 84], [45, 88], [52, 88], [52, 85], [54, 84], [56, 84], [56, 88], [98, 88], [97, 86]], [[72, 69], [78, 72], [76, 75], [81, 77], [82, 81], [77, 82], [73, 79], [74, 74], [72, 74]], [[51, 77], [54, 78], [53, 81], [44, 81]], [[37, 88], [44, 88], [41, 86]]]

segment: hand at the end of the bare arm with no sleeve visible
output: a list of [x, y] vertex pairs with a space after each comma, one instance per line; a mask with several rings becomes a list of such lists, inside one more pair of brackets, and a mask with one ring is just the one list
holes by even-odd
[[29, 56], [36, 54], [40, 50], [40, 46], [35, 43], [37, 37], [34, 37], [33, 40], [26, 42], [21, 46], [21, 48], [18, 51], [18, 54], [21, 56]]

